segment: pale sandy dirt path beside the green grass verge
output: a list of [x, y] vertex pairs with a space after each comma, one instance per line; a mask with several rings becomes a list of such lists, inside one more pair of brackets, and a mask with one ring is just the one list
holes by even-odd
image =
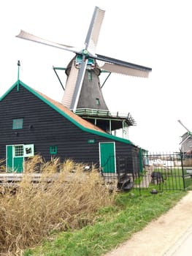
[[104, 256], [163, 256], [192, 227], [192, 191], [159, 219]]

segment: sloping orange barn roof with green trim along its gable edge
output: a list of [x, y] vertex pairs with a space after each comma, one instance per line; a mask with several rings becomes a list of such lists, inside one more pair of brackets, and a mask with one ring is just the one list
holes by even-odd
[[[0, 98], [0, 101], [4, 99], [4, 97], [9, 94], [12, 89], [14, 89], [16, 86], [23, 86], [25, 89], [30, 91], [32, 94], [34, 94], [36, 97], [41, 99], [43, 102], [45, 102], [47, 105], [49, 105], [51, 108], [53, 108], [55, 111], [61, 114], [61, 116], [64, 116], [66, 119], [71, 121], [73, 124], [75, 124], [77, 127], [82, 129], [85, 132], [90, 132], [95, 135], [99, 135], [105, 138], [110, 138], [112, 140], [118, 140], [123, 143], [127, 143], [130, 145], [134, 145], [130, 140], [126, 140], [123, 138], [118, 138], [114, 135], [110, 135], [104, 130], [100, 129], [99, 127], [96, 127], [95, 125], [91, 124], [90, 122], [86, 121], [85, 119], [81, 118], [80, 116], [77, 116], [75, 113], [73, 113], [69, 108], [66, 108], [64, 105], [62, 105], [60, 102], [55, 101], [54, 99], [51, 99], [50, 97], [47, 97], [45, 94], [42, 94], [41, 92], [32, 89], [31, 87], [27, 86], [25, 83], [23, 83], [21, 80], [18, 80], [16, 83], [14, 83], [9, 90]], [[135, 145], [134, 145], [135, 146]]]

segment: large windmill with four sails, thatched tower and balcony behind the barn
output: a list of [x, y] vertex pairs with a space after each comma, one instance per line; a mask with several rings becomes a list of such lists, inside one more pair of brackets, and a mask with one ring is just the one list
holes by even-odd
[[62, 103], [77, 115], [109, 133], [122, 128], [123, 137], [126, 137], [127, 128], [134, 125], [135, 121], [130, 113], [126, 116], [110, 113], [101, 91], [99, 75], [102, 71], [107, 71], [147, 78], [152, 69], [96, 53], [104, 13], [104, 10], [95, 7], [85, 38], [85, 47], [80, 51], [74, 50], [74, 47], [69, 45], [36, 37], [23, 30], [17, 37], [74, 53], [74, 58], [66, 68], [67, 80]]

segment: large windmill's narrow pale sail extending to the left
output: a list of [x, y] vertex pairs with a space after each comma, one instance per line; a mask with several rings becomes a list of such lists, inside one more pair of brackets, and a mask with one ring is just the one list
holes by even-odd
[[23, 30], [20, 30], [20, 34], [18, 34], [16, 37], [19, 37], [21, 39], [26, 39], [26, 40], [29, 40], [32, 42], [38, 42], [42, 45], [49, 45], [49, 46], [52, 46], [55, 48], [59, 48], [62, 50], [69, 50], [73, 53], [77, 53], [77, 51], [72, 50], [72, 48], [74, 48], [73, 46], [58, 44], [57, 42], [52, 42], [47, 39], [43, 39], [42, 37], [37, 37], [34, 34], [29, 34], [28, 32], [23, 31]]

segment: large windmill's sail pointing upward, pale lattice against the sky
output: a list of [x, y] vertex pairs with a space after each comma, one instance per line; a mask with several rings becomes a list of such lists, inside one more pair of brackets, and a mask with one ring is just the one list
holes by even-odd
[[104, 19], [104, 13], [104, 10], [101, 10], [99, 7], [95, 7], [91, 23], [88, 29], [88, 34], [85, 39], [85, 49], [91, 48], [94, 51], [94, 53], [99, 39], [99, 32]]

